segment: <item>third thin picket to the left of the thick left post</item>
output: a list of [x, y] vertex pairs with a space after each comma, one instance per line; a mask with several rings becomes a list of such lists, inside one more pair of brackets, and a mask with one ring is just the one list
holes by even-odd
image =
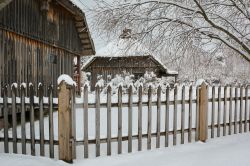
[[34, 126], [34, 87], [29, 85], [29, 98], [30, 98], [30, 138], [31, 138], [31, 155], [35, 156], [35, 126]]

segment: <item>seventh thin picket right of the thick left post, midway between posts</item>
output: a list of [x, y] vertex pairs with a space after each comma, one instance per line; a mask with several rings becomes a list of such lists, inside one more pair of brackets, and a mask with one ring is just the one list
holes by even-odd
[[142, 150], [142, 85], [138, 92], [138, 151]]

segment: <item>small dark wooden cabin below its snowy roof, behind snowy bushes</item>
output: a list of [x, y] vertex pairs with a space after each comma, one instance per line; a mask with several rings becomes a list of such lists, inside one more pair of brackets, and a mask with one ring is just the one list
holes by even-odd
[[146, 56], [94, 56], [88, 60], [82, 67], [82, 71], [91, 73], [91, 90], [95, 89], [97, 76], [102, 75], [107, 81], [107, 76], [114, 77], [116, 74], [122, 74], [123, 71], [129, 72], [140, 78], [146, 71], [154, 72], [157, 77], [174, 77], [178, 73], [169, 70], [159, 60], [151, 55]]

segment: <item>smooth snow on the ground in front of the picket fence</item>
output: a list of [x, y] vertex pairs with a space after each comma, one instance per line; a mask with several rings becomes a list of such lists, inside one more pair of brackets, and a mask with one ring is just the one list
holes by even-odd
[[[1, 144], [0, 144], [1, 145]], [[206, 143], [196, 142], [170, 148], [130, 154], [112, 155], [95, 159], [74, 161], [76, 166], [248, 166], [250, 134], [238, 134], [216, 139]], [[69, 166], [62, 161], [43, 157], [32, 157], [14, 154], [1, 154], [1, 166]]]

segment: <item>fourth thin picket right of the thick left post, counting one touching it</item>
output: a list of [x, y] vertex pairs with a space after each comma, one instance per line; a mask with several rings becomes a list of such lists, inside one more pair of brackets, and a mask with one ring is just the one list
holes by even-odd
[[111, 155], [111, 86], [107, 92], [107, 155]]

